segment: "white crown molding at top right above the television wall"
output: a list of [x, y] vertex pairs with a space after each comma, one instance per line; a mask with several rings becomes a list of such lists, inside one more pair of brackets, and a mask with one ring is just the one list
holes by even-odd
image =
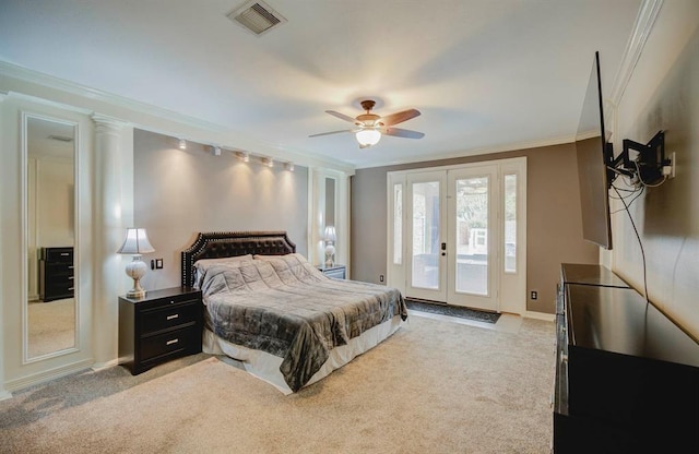
[[626, 44], [626, 50], [621, 56], [621, 62], [614, 77], [612, 93], [608, 98], [608, 101], [614, 107], [618, 106], [621, 101], [624, 92], [631, 80], [631, 75], [633, 75], [636, 64], [641, 58], [645, 41], [648, 41], [648, 37], [653, 29], [662, 5], [663, 0], [643, 0], [641, 2], [631, 36], [629, 36], [629, 40]]

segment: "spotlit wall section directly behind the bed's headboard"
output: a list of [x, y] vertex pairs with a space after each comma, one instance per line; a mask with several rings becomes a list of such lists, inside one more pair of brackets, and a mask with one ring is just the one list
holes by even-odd
[[180, 253], [200, 231], [286, 230], [307, 255], [308, 169], [244, 163], [229, 152], [149, 131], [134, 131], [134, 223], [147, 229], [163, 270], [149, 270], [149, 289], [178, 286]]

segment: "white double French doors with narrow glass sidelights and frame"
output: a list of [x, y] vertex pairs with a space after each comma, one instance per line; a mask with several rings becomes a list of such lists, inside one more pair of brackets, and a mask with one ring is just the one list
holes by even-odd
[[525, 164], [390, 172], [389, 285], [407, 297], [523, 313]]

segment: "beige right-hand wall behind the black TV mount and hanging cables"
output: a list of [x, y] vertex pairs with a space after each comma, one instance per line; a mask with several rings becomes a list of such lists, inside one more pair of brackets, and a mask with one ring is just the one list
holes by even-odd
[[[665, 131], [676, 177], [631, 205], [650, 300], [699, 339], [699, 2], [665, 1], [617, 108], [621, 140]], [[616, 207], [620, 205], [617, 203]], [[628, 216], [613, 218], [613, 268], [644, 291], [643, 260]]]

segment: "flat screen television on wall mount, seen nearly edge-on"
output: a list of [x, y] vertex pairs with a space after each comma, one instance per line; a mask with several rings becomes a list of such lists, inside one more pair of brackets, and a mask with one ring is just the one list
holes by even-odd
[[607, 142], [602, 107], [600, 52], [595, 52], [588, 89], [576, 134], [578, 181], [582, 213], [582, 236], [605, 249], [612, 249], [608, 169], [614, 158]]

